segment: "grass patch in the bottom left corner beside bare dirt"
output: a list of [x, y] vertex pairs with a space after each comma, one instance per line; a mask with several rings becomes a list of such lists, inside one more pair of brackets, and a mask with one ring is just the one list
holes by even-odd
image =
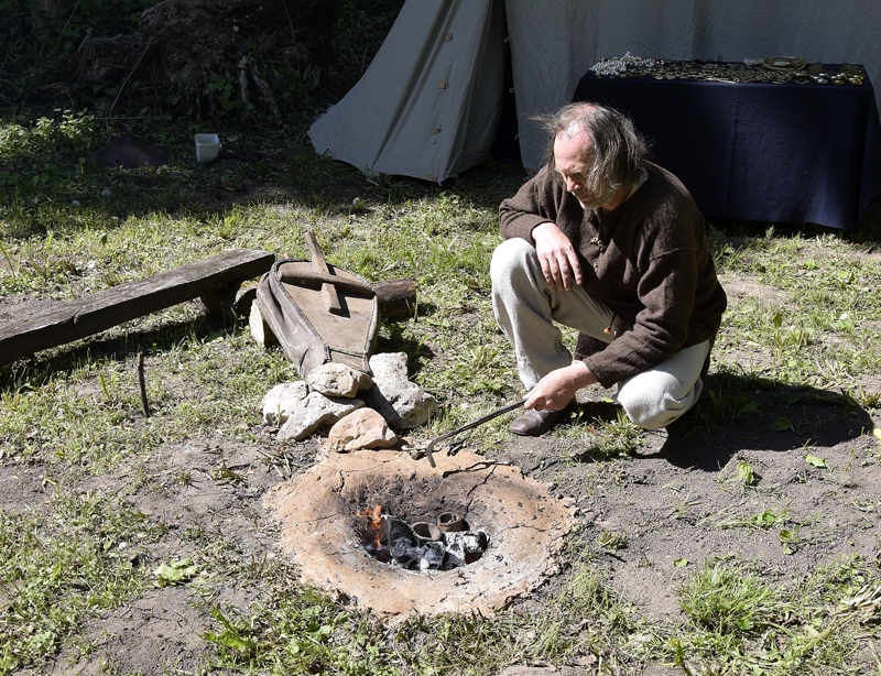
[[162, 531], [116, 498], [55, 488], [48, 513], [0, 513], [3, 674], [77, 643], [86, 618], [143, 589], [138, 552]]

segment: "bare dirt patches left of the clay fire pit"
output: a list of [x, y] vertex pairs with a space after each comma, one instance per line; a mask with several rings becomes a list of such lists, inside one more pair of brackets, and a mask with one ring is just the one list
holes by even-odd
[[[302, 456], [303, 461], [289, 460], [292, 471], [311, 465], [308, 448], [297, 450], [296, 456]], [[263, 461], [263, 453], [227, 438], [193, 439], [164, 448], [159, 457], [124, 465], [112, 475], [55, 479], [74, 483], [80, 493], [101, 491], [113, 495], [130, 491], [133, 473], [146, 477], [127, 500], [137, 510], [167, 524], [168, 530], [159, 542], [139, 547], [134, 554], [144, 570], [199, 554], [194, 538], [187, 537], [191, 530], [219, 534], [228, 546], [225, 556], [231, 555], [246, 567], [274, 556], [275, 536], [261, 499], [263, 491], [280, 481], [281, 476], [272, 464]], [[224, 468], [241, 480], [218, 481], [218, 472], [225, 471]], [[46, 466], [35, 465], [20, 467], [12, 475], [0, 475], [0, 509], [11, 512], [40, 509], [51, 500], [52, 484], [45, 481], [47, 470]], [[168, 490], [167, 477], [182, 471], [188, 473], [189, 482]], [[101, 674], [108, 667], [144, 676], [174, 673], [173, 669], [198, 673], [206, 651], [202, 635], [211, 630], [208, 609], [220, 603], [243, 611], [260, 590], [241, 587], [235, 575], [227, 575], [210, 596], [202, 593], [197, 582], [156, 587], [132, 603], [90, 620], [83, 634], [96, 648], [78, 659], [68, 651], [58, 656], [47, 673]]]

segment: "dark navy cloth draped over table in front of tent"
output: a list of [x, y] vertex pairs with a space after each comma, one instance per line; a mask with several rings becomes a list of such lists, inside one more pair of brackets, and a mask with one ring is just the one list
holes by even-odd
[[588, 72], [574, 100], [628, 115], [652, 161], [682, 179], [708, 218], [852, 229], [881, 192], [881, 122], [868, 77], [838, 86]]

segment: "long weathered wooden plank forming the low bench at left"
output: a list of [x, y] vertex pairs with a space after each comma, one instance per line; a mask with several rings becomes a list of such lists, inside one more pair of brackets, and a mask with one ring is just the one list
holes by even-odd
[[235, 249], [138, 282], [0, 326], [0, 364], [40, 350], [86, 338], [178, 303], [202, 296], [227, 296], [243, 280], [269, 271], [275, 257], [267, 251]]

